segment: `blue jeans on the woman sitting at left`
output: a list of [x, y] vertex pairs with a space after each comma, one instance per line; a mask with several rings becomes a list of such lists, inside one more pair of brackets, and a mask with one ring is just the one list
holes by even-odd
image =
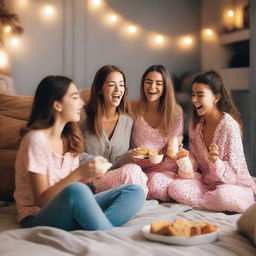
[[123, 185], [94, 195], [80, 182], [71, 183], [43, 209], [25, 217], [24, 227], [50, 226], [63, 230], [109, 230], [122, 226], [143, 206], [145, 193], [138, 185]]

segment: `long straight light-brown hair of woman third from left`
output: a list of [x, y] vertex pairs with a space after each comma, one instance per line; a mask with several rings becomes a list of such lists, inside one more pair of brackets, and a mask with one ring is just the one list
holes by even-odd
[[143, 111], [147, 107], [147, 98], [144, 92], [144, 83], [147, 74], [156, 71], [163, 77], [164, 91], [160, 97], [158, 112], [162, 116], [160, 123], [160, 131], [162, 134], [167, 135], [171, 127], [176, 125], [178, 114], [180, 114], [179, 105], [176, 102], [172, 80], [168, 70], [162, 65], [150, 66], [143, 74], [140, 83], [140, 100], [139, 100], [139, 113], [143, 115]]

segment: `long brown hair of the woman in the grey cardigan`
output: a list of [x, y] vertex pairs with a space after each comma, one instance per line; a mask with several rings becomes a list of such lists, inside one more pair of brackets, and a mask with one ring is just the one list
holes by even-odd
[[97, 138], [100, 138], [102, 136], [102, 117], [105, 113], [105, 102], [102, 94], [102, 87], [106, 81], [107, 76], [112, 72], [121, 73], [124, 79], [125, 91], [122, 100], [117, 107], [117, 111], [121, 114], [131, 115], [130, 105], [127, 100], [128, 89], [123, 71], [113, 65], [106, 65], [101, 67], [95, 74], [91, 86], [90, 99], [88, 103], [84, 106], [86, 123], [82, 124], [82, 126], [85, 125], [90, 133], [95, 134]]

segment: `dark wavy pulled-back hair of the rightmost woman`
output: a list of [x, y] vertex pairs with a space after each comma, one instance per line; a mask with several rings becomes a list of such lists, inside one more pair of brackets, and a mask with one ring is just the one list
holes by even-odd
[[[216, 71], [207, 71], [202, 74], [199, 74], [195, 77], [192, 84], [200, 83], [207, 85], [213, 94], [219, 94], [220, 99], [217, 102], [217, 108], [222, 111], [230, 114], [239, 124], [241, 136], [243, 135], [243, 122], [240, 116], [239, 111], [237, 110], [230, 90], [228, 90], [221, 79], [221, 76]], [[200, 116], [197, 114], [196, 108], [193, 106], [193, 126], [200, 121]]]

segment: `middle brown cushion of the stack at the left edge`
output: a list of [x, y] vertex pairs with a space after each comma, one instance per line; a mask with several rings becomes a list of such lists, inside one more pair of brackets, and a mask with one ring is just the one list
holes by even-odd
[[0, 149], [17, 149], [20, 140], [20, 129], [26, 121], [0, 115]]

